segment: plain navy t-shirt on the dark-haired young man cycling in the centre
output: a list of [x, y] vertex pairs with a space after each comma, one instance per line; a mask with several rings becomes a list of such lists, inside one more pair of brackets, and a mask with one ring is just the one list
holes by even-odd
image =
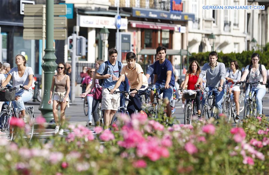
[[174, 76], [173, 66], [172, 66], [171, 62], [169, 60], [165, 59], [162, 64], [160, 64], [160, 60], [158, 60], [154, 63], [153, 74], [157, 74], [157, 76], [158, 76], [157, 82], [156, 82], [157, 85], [159, 85], [159, 84], [165, 85], [166, 77], [167, 77], [166, 72], [169, 70], [172, 71], [169, 86], [174, 87], [175, 86], [175, 76]]

